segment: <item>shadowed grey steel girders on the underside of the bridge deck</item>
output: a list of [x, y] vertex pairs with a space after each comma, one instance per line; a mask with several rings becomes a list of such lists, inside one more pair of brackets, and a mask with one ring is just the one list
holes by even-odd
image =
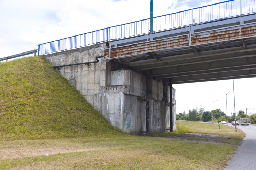
[[256, 76], [256, 39], [248, 38], [119, 59], [132, 70], [173, 84]]

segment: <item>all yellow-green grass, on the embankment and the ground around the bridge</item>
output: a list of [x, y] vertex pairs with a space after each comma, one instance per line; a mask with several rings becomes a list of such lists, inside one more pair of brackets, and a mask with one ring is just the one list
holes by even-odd
[[0, 63], [0, 104], [0, 169], [221, 169], [236, 148], [126, 135], [41, 57]]

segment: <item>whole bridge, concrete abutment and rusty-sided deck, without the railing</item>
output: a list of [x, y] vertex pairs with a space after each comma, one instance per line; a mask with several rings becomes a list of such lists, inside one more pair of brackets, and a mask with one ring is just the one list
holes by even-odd
[[172, 131], [172, 84], [256, 76], [256, 14], [44, 57], [113, 126], [129, 134]]

